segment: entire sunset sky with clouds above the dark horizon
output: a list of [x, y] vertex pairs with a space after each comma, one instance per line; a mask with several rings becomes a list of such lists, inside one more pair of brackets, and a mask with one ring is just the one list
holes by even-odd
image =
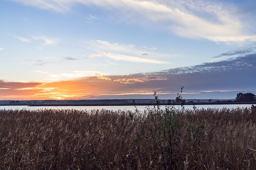
[[256, 94], [256, 2], [1, 0], [0, 100]]

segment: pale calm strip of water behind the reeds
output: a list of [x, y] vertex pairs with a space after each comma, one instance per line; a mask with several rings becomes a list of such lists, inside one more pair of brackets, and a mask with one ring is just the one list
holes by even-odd
[[[236, 108], [236, 107], [248, 107], [250, 108], [252, 105], [251, 104], [242, 104], [242, 105], [237, 105], [237, 104], [232, 104], [232, 105], [196, 105], [197, 108]], [[146, 106], [137, 106], [139, 110], [144, 110]], [[164, 105], [161, 106], [162, 109], [164, 109]], [[175, 106], [178, 108], [178, 106]], [[110, 110], [134, 110], [133, 106], [0, 106], [0, 109], [44, 109], [44, 108], [51, 108], [51, 109], [110, 109]], [[188, 109], [193, 109], [193, 105], [185, 105], [185, 108]]]

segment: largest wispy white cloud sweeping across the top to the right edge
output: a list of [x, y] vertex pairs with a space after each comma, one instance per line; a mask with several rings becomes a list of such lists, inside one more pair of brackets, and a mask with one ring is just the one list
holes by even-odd
[[[255, 41], [254, 35], [246, 35], [246, 24], [237, 17], [232, 5], [196, 1], [140, 1], [140, 0], [15, 0], [26, 5], [65, 13], [77, 3], [96, 5], [120, 12], [119, 16], [136, 16], [160, 22], [176, 34], [187, 38], [204, 38], [210, 41]], [[142, 18], [141, 18], [142, 17]], [[93, 16], [90, 15], [90, 18]], [[95, 18], [95, 17], [94, 17]], [[252, 28], [253, 29], [253, 28]]]

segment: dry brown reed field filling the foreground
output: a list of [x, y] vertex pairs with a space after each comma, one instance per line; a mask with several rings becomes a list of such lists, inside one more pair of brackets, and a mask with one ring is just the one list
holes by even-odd
[[255, 169], [255, 123], [247, 108], [0, 110], [0, 169]]

